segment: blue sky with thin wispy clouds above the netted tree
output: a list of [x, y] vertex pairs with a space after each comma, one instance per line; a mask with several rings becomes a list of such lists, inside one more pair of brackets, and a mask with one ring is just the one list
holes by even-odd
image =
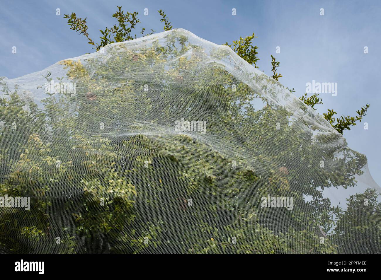
[[[255, 32], [260, 70], [270, 74], [273, 54], [280, 61], [283, 85], [301, 96], [306, 83], [338, 83], [337, 96], [321, 94], [318, 112], [335, 109], [354, 115], [371, 104], [364, 122], [345, 131], [349, 147], [368, 158], [370, 172], [381, 184], [379, 159], [381, 98], [379, 81], [381, 58], [381, 2], [376, 1], [2, 1], [0, 10], [0, 76], [16, 78], [42, 70], [62, 59], [92, 52], [86, 39], [69, 29], [64, 14], [75, 12], [88, 18], [89, 34], [96, 40], [99, 29], [114, 25], [117, 10], [138, 11], [146, 30], [163, 31], [157, 10], [162, 9], [174, 28], [187, 29], [199, 37], [222, 44]], [[61, 9], [61, 16], [56, 9]], [[144, 16], [144, 8], [149, 15]], [[237, 15], [232, 16], [232, 8]], [[320, 16], [324, 8], [324, 16]], [[96, 40], [97, 41], [97, 40]], [[17, 54], [12, 47], [17, 47]], [[280, 54], [275, 48], [280, 46]], [[368, 46], [369, 53], [363, 48]]]

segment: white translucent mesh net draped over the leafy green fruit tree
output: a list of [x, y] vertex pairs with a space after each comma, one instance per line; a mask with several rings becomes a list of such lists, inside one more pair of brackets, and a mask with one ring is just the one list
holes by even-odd
[[0, 79], [2, 253], [381, 253], [366, 157], [228, 46], [174, 29]]

